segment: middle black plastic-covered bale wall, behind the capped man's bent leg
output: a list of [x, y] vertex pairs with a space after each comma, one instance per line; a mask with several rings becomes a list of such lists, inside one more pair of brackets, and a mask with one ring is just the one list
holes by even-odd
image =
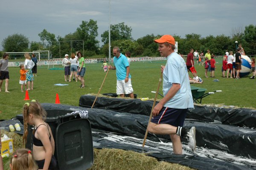
[[[47, 110], [50, 108], [64, 109], [64, 112], [70, 109], [81, 109], [81, 107], [71, 107], [68, 105], [52, 106], [52, 104], [43, 104], [43, 107]], [[146, 115], [115, 112], [105, 109], [86, 108], [86, 110], [88, 110], [88, 119], [92, 128], [140, 138], [143, 138], [145, 135], [149, 119]], [[247, 158], [256, 158], [256, 130], [254, 129], [191, 120], [186, 120], [184, 126], [196, 127], [196, 141], [198, 147], [221, 150]], [[148, 136], [154, 137], [156, 135], [149, 133]], [[169, 135], [157, 135], [157, 137], [169, 139]]]

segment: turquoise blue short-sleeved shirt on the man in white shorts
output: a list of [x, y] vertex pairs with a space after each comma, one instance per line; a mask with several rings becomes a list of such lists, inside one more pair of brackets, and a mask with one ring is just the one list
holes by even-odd
[[[114, 65], [116, 67], [116, 79], [117, 80], [125, 80], [126, 67], [129, 66], [129, 62], [128, 62], [127, 58], [125, 57], [125, 55], [122, 55], [122, 53], [120, 53], [119, 58], [114, 57], [113, 61], [114, 61]], [[129, 73], [128, 78], [131, 78], [130, 73]]]

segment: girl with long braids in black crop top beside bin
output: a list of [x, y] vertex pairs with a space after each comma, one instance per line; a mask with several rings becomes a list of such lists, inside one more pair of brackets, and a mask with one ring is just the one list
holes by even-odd
[[54, 139], [52, 130], [44, 121], [46, 112], [41, 107], [41, 104], [32, 101], [24, 104], [23, 121], [24, 121], [24, 136], [23, 141], [26, 143], [28, 134], [27, 124], [35, 126], [33, 133], [33, 153], [39, 170], [55, 170], [57, 168], [54, 154]]

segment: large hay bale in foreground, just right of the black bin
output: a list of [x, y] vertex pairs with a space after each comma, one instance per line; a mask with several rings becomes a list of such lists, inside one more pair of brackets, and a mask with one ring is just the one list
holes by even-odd
[[134, 151], [101, 149], [94, 153], [96, 156], [90, 170], [151, 170], [158, 164], [156, 158]]

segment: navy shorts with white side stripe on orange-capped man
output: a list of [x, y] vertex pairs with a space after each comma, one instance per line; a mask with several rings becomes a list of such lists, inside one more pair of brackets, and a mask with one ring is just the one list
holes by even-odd
[[151, 122], [155, 124], [170, 124], [175, 127], [183, 127], [187, 110], [188, 109], [163, 107], [157, 116], [152, 117]]

